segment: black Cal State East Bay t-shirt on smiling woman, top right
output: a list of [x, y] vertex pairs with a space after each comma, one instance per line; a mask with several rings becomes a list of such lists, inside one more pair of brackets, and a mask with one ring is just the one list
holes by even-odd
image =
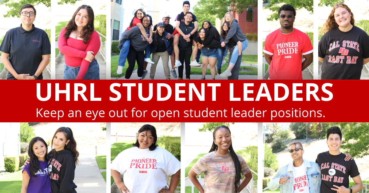
[[360, 79], [369, 36], [356, 26], [347, 32], [334, 28], [321, 37], [318, 56], [324, 58], [321, 79]]

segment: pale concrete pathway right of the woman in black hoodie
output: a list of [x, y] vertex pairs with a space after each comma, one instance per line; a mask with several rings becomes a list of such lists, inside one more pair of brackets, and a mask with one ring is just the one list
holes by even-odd
[[77, 185], [78, 193], [106, 192], [106, 182], [101, 176], [95, 155], [79, 155], [80, 164], [76, 166], [73, 182]]

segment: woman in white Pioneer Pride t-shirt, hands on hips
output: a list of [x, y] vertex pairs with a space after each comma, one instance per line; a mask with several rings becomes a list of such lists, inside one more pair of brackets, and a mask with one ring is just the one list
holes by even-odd
[[[111, 163], [111, 175], [122, 193], [173, 193], [178, 186], [180, 162], [156, 145], [156, 129], [142, 126], [134, 147], [120, 152]], [[120, 175], [123, 175], [121, 181]], [[172, 176], [166, 189], [166, 176]]]

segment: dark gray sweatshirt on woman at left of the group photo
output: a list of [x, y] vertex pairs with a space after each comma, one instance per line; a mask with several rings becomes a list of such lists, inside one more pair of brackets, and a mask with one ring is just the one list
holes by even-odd
[[[145, 31], [147, 36], [149, 37], [149, 28], [147, 28]], [[131, 45], [135, 48], [137, 52], [144, 51], [144, 49], [149, 44], [149, 42], [146, 41], [144, 35], [142, 35], [137, 25], [135, 27], [132, 27], [130, 30], [125, 32], [124, 35], [122, 35], [118, 45], [119, 49], [123, 47], [123, 44], [127, 39], [131, 39]]]

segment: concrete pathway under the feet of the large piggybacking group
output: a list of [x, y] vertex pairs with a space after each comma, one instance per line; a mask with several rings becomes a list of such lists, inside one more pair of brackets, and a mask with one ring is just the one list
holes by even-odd
[[[246, 64], [246, 63], [241, 63], [241, 66], [252, 66], [255, 68], [258, 68], [257, 65], [252, 65], [252, 64]], [[145, 80], [149, 80], [150, 79], [150, 68], [151, 68], [151, 63], [148, 63], [146, 70], [148, 70], [148, 75], [146, 75]], [[200, 67], [191, 67], [191, 68], [200, 68]], [[210, 66], [208, 65], [207, 68], [210, 68]], [[169, 61], [169, 69], [172, 70], [172, 64]], [[113, 72], [116, 73], [116, 72]], [[178, 76], [178, 68], [176, 68], [176, 74]], [[192, 80], [198, 80], [202, 77], [202, 75], [191, 75], [190, 78]], [[177, 80], [177, 78], [173, 78], [172, 73], [170, 73], [170, 78], [172, 80]], [[183, 78], [186, 79], [186, 69], [183, 69]], [[211, 75], [205, 75], [206, 80], [211, 80]], [[137, 69], [133, 70], [133, 73], [131, 75], [131, 80], [135, 80], [137, 79]], [[227, 78], [222, 78], [218, 75], [215, 75], [215, 79], [216, 80], [227, 80]], [[258, 75], [239, 75], [238, 76], [239, 80], [257, 80], [258, 79]], [[111, 77], [111, 80], [124, 80], [124, 76], [117, 78], [117, 77]], [[164, 74], [164, 68], [163, 68], [163, 62], [162, 59], [159, 59], [158, 65], [156, 65], [156, 72], [155, 72], [155, 80], [165, 80], [165, 74]]]

